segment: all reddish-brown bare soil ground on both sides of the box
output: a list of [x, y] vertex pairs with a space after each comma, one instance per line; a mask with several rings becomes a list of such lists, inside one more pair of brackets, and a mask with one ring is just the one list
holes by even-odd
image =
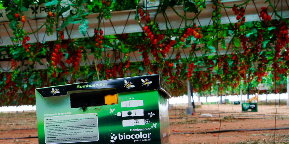
[[[258, 105], [258, 112], [241, 112], [240, 105], [202, 105], [196, 108], [196, 115], [186, 115], [186, 106], [172, 106], [169, 110], [172, 144], [188, 143], [231, 143], [263, 144], [273, 143], [274, 130], [248, 132], [222, 132], [206, 134], [183, 134], [184, 132], [210, 132], [229, 129], [274, 128], [275, 106]], [[201, 114], [210, 113], [213, 117], [203, 118]], [[277, 106], [276, 128], [289, 127], [289, 108]], [[179, 134], [173, 134], [179, 133]], [[214, 136], [216, 134], [216, 136]], [[219, 137], [218, 137], [219, 135]], [[3, 139], [19, 137], [37, 137], [36, 112], [0, 113], [0, 144], [36, 144], [38, 138]], [[275, 143], [289, 143], [289, 130], [276, 130]]]

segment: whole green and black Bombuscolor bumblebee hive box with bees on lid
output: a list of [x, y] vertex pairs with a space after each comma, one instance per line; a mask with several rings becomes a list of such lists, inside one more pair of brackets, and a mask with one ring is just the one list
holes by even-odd
[[159, 74], [35, 90], [39, 144], [170, 143], [170, 88]]

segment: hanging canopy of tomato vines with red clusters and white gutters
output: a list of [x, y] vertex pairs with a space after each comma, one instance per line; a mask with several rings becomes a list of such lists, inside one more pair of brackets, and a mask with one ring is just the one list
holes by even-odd
[[9, 0], [0, 14], [0, 106], [35, 105], [35, 88], [153, 73], [173, 96], [187, 80], [202, 96], [286, 90], [287, 1]]

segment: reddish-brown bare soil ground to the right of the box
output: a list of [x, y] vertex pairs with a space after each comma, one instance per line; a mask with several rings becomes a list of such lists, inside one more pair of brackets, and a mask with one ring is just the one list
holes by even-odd
[[[171, 143], [273, 143], [274, 130], [222, 132], [207, 134], [172, 134], [182, 132], [210, 132], [230, 129], [275, 127], [275, 105], [258, 105], [258, 112], [243, 112], [240, 105], [202, 105], [197, 115], [186, 115], [186, 106], [172, 106], [170, 114]], [[210, 113], [213, 117], [202, 118]], [[276, 128], [289, 127], [289, 108], [277, 106]], [[216, 134], [216, 136], [214, 136]], [[218, 138], [219, 135], [219, 138]], [[289, 130], [276, 130], [275, 143], [289, 143]]]

